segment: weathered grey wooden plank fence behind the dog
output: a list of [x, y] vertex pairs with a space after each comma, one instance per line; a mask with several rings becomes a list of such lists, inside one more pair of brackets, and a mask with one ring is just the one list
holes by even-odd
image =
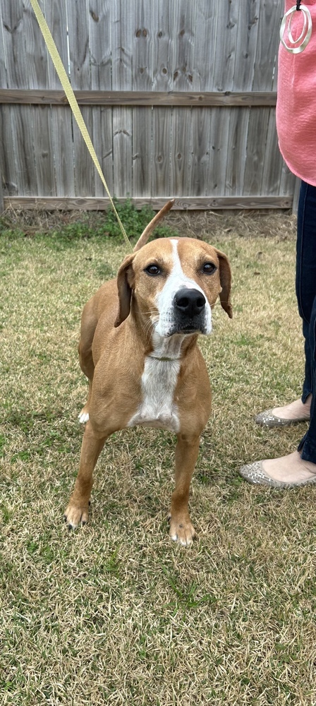
[[[41, 0], [109, 189], [154, 208], [289, 208], [282, 0]], [[104, 208], [29, 0], [0, 0], [4, 205]]]

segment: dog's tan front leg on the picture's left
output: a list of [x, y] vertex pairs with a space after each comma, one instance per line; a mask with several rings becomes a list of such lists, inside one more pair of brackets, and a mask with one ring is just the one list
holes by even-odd
[[102, 438], [97, 436], [92, 430], [90, 422], [87, 422], [81, 447], [79, 472], [73, 494], [64, 515], [65, 522], [71, 528], [80, 527], [80, 525], [85, 525], [87, 522], [93, 469], [107, 436]]

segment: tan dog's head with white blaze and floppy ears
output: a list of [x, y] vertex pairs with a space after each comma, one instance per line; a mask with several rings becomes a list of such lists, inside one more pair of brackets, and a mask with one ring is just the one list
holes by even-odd
[[162, 337], [211, 333], [219, 297], [232, 316], [231, 268], [224, 253], [190, 238], [157, 239], [128, 255], [119, 268], [119, 326], [131, 301], [144, 323]]

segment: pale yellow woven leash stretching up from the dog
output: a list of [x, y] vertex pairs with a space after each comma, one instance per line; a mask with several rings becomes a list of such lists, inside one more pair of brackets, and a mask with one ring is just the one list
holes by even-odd
[[129, 249], [132, 250], [132, 246], [130, 245], [130, 241], [128, 240], [126, 230], [123, 227], [123, 223], [121, 222], [121, 218], [119, 217], [119, 213], [117, 213], [113, 199], [112, 199], [111, 194], [109, 192], [107, 182], [104, 179], [104, 174], [103, 174], [102, 169], [100, 167], [99, 160], [98, 160], [97, 154], [95, 152], [95, 148], [92, 145], [90, 135], [87, 131], [87, 126], [86, 126], [85, 121], [83, 119], [83, 116], [80, 112], [78, 102], [76, 100], [73, 89], [71, 88], [71, 83], [70, 83], [68, 76], [66, 74], [65, 68], [63, 66], [63, 62], [61, 61], [61, 57], [59, 56], [59, 53], [57, 51], [56, 44], [53, 40], [53, 37], [51, 36], [51, 32], [49, 30], [49, 26], [47, 25], [47, 21], [44, 18], [44, 15], [42, 13], [41, 8], [39, 7], [37, 0], [30, 0], [30, 3], [32, 5], [35, 16], [37, 18], [37, 22], [39, 23], [39, 29], [41, 30], [42, 35], [44, 37], [44, 42], [45, 42], [47, 49], [49, 51], [49, 54], [51, 56], [51, 61], [53, 62], [54, 67], [56, 68], [56, 71], [59, 76], [59, 80], [61, 82], [63, 90], [66, 93], [66, 97], [68, 98], [68, 102], [70, 104], [71, 110], [73, 111], [75, 121], [78, 124], [78, 128], [80, 130], [80, 133], [82, 134], [83, 139], [85, 140], [85, 144], [87, 145], [87, 148], [88, 148], [90, 155], [92, 157], [92, 160], [95, 163], [95, 167], [97, 169], [99, 177], [100, 177], [100, 179], [102, 179], [102, 184], [104, 185], [104, 189], [105, 189], [105, 191], [107, 191], [107, 195], [109, 196], [109, 200], [111, 202], [111, 206], [114, 210], [116, 218], [119, 222], [119, 227], [121, 228], [123, 238], [126, 241], [126, 244], [128, 245]]

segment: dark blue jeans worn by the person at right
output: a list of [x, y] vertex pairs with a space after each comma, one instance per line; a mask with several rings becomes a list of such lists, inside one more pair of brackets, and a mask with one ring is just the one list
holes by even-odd
[[302, 181], [298, 203], [296, 296], [303, 320], [305, 378], [302, 401], [312, 393], [310, 426], [298, 445], [301, 457], [316, 463], [316, 186]]

